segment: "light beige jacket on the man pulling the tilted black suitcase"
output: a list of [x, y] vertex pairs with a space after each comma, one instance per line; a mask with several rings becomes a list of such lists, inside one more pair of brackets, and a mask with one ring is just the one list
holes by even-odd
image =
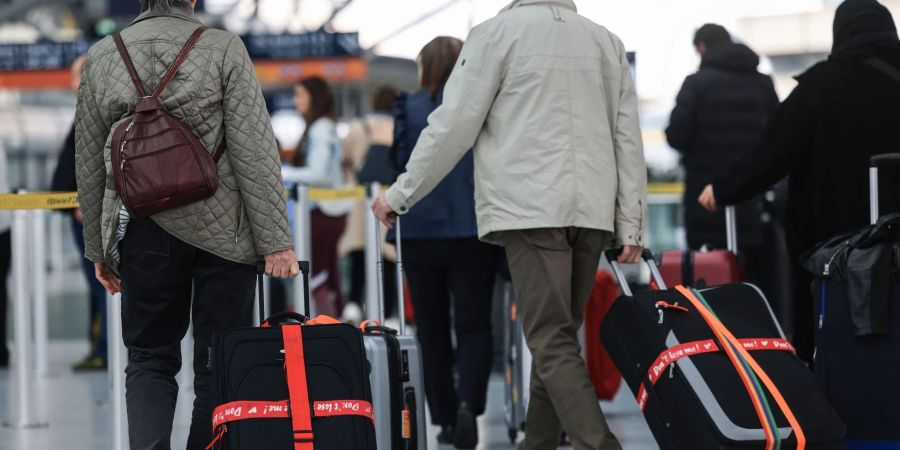
[[405, 213], [474, 147], [479, 235], [581, 227], [644, 243], [647, 173], [622, 42], [572, 0], [519, 0], [472, 30], [388, 191]]

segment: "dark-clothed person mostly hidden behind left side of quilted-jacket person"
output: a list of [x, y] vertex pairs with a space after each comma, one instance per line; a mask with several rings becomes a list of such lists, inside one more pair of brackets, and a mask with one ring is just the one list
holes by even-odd
[[[81, 69], [84, 66], [84, 56], [75, 60], [72, 64], [72, 92], [78, 94], [78, 86], [81, 84]], [[59, 153], [59, 162], [50, 190], [56, 192], [74, 192], [78, 190], [75, 179], [75, 125], [63, 142], [62, 151]], [[81, 266], [85, 280], [88, 284], [88, 301], [90, 305], [90, 322], [88, 324], [88, 337], [90, 349], [83, 361], [72, 366], [75, 371], [104, 370], [106, 369], [106, 290], [94, 276], [94, 263], [84, 258], [84, 226], [81, 208], [60, 210], [64, 214], [71, 215], [72, 236], [75, 245], [78, 246], [78, 255], [81, 258]]]

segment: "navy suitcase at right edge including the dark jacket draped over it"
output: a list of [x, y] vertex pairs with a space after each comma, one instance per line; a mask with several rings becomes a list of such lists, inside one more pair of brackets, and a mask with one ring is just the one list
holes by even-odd
[[[816, 277], [813, 370], [828, 401], [847, 424], [851, 450], [900, 450], [900, 230], [896, 213], [879, 214], [878, 166], [886, 163], [900, 163], [900, 154], [871, 161], [873, 226], [824, 242], [803, 257], [805, 268]], [[865, 263], [867, 255], [878, 251], [888, 259], [893, 254], [893, 263], [880, 266], [887, 270], [848, 263], [850, 259]], [[863, 278], [871, 280], [868, 305], [851, 301], [850, 285], [857, 292], [865, 290]]]

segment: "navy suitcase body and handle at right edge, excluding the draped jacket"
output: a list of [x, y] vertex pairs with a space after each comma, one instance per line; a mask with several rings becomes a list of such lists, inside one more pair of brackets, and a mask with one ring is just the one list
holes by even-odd
[[[872, 159], [869, 173], [874, 180], [870, 180], [869, 194], [873, 224], [880, 217], [879, 162], [900, 163], [900, 154]], [[890, 333], [860, 337], [855, 333], [847, 282], [832, 279], [838, 274], [834, 270], [829, 274], [828, 267], [807, 265], [807, 269], [816, 276], [812, 288], [816, 317], [813, 370], [828, 401], [847, 424], [847, 446], [852, 450], [900, 450], [900, 268], [894, 267], [886, 311]]]

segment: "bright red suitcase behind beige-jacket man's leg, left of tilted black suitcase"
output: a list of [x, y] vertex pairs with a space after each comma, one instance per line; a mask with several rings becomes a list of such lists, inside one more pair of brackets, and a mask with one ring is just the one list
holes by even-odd
[[612, 274], [605, 270], [598, 271], [594, 279], [594, 291], [584, 310], [584, 359], [600, 400], [612, 400], [622, 384], [622, 374], [603, 343], [597, 339], [600, 324], [619, 295], [619, 286]]

